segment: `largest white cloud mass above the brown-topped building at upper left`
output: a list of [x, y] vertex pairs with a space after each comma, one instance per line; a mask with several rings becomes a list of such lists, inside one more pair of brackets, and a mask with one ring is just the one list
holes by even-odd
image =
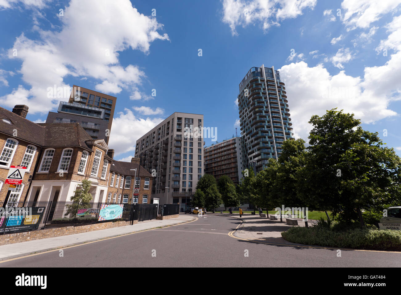
[[[26, 104], [32, 113], [57, 107], [59, 99], [47, 98], [47, 87], [68, 87], [63, 81], [67, 75], [96, 79], [95, 89], [101, 92], [125, 89], [137, 97], [145, 73], [136, 65], [120, 65], [119, 52], [134, 49], [148, 54], [152, 41], [168, 40], [167, 34], [158, 33], [162, 24], [140, 14], [129, 0], [71, 0], [61, 22], [57, 31], [36, 27], [41, 40], [17, 37], [12, 47], [16, 57], [9, 50], [10, 58], [22, 61], [20, 73], [30, 85]], [[5, 97], [0, 103], [13, 106]]]

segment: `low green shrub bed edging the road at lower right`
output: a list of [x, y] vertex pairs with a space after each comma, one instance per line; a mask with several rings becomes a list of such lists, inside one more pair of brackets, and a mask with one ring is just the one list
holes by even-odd
[[353, 228], [335, 231], [319, 227], [293, 227], [282, 232], [289, 242], [336, 248], [401, 250], [401, 231]]

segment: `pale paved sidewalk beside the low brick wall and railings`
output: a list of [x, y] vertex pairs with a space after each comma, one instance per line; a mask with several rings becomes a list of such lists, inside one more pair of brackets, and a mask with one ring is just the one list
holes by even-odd
[[[129, 226], [120, 226], [117, 228], [107, 228], [105, 230], [95, 230], [91, 232], [83, 232], [80, 234], [71, 234], [68, 236], [59, 236], [55, 238], [46, 238], [40, 240], [32, 240], [21, 243], [14, 243], [0, 246], [0, 261], [18, 256], [28, 255], [56, 248], [73, 246], [85, 242], [121, 236], [132, 232], [141, 232], [152, 228], [172, 226], [184, 222], [195, 220], [196, 216], [180, 214], [177, 218], [166, 220], [149, 220], [139, 222], [138, 224]], [[1, 238], [1, 236], [0, 236]]]

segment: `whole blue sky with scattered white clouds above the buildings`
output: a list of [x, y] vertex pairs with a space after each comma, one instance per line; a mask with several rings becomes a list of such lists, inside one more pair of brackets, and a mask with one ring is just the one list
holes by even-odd
[[53, 85], [117, 96], [109, 146], [129, 159], [173, 112], [204, 114], [218, 141], [240, 132], [238, 84], [264, 64], [286, 83], [296, 137], [338, 107], [400, 154], [400, 15], [393, 0], [0, 0], [0, 106], [43, 122], [67, 100]]

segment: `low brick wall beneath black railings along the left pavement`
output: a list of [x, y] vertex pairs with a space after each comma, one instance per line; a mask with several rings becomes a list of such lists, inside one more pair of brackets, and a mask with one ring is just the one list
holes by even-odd
[[[138, 220], [134, 220], [134, 224], [136, 223], [138, 223]], [[70, 234], [79, 234], [81, 232], [90, 232], [94, 230], [104, 230], [106, 228], [115, 228], [119, 226], [127, 226], [130, 224], [130, 221], [103, 222], [96, 224], [87, 224], [84, 226], [66, 226], [63, 228], [50, 228], [47, 230], [36, 230], [33, 232], [4, 234], [0, 235], [0, 245], [20, 243], [45, 238], [54, 238], [59, 236], [68, 236]]]

